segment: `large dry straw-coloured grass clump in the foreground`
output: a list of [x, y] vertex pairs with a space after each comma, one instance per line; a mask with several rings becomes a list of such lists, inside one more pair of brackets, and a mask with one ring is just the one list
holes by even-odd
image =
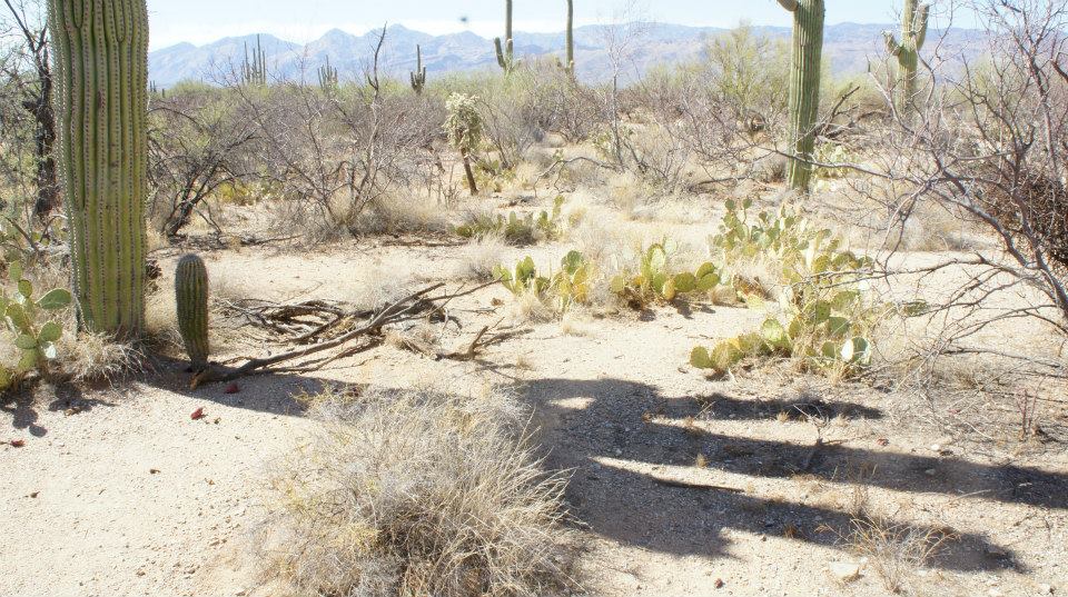
[[[492, 392], [487, 392], [492, 394]], [[271, 479], [270, 571], [300, 595], [522, 596], [575, 588], [565, 479], [500, 395], [309, 400], [322, 430]], [[276, 549], [276, 550], [274, 550]]]

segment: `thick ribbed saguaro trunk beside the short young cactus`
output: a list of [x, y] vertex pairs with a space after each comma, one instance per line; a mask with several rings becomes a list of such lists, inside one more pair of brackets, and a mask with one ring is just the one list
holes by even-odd
[[132, 338], [145, 324], [148, 10], [145, 0], [48, 9], [79, 325]]

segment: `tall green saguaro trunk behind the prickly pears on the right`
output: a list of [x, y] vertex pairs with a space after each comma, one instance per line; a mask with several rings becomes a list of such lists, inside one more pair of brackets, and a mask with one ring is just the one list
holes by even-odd
[[820, 107], [820, 62], [823, 58], [823, 0], [779, 0], [793, 13], [793, 53], [790, 69], [789, 141], [793, 158], [787, 181], [808, 192], [815, 149], [815, 119]]

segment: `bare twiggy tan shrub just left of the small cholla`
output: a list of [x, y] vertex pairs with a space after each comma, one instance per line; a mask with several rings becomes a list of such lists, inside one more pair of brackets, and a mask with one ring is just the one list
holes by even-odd
[[[372, 206], [390, 195], [428, 188], [431, 150], [445, 118], [434, 97], [380, 82], [329, 93], [299, 84], [229, 89], [256, 133], [256, 177], [277, 189], [278, 227], [303, 229], [308, 241], [359, 236]], [[436, 175], [435, 175], [436, 176]]]

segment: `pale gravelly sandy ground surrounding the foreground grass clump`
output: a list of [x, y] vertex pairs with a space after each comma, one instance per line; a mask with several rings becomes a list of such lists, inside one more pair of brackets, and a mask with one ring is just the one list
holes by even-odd
[[[461, 249], [255, 248], [212, 252], [209, 268], [234, 296], [345, 299], [380, 283], [383, 270], [416, 285], [448, 278]], [[494, 298], [508, 297], [490, 288], [454, 307], [464, 335], [507, 310]], [[0, 440], [24, 441], [0, 447], [0, 595], [276, 594], [249, 548], [271, 462], [315, 425], [293, 396], [327, 381], [427, 380], [457, 392], [492, 384], [533, 407], [547, 466], [572, 471], [567, 501], [591, 595], [888, 594], [877, 563], [843, 541], [861, 496], [893, 524], [953, 535], [926, 568], [908, 570], [912, 594], [1068, 593], [1064, 444], [977, 450], [904, 394], [789, 371], [712, 381], [686, 366], [694, 345], [759, 320], [695, 306], [566, 330], [536, 324], [473, 362], [384, 346], [314, 376], [249, 378], [237, 394], [187, 390], [169, 360], [113, 388], [41, 388], [0, 412]], [[261, 348], [231, 342], [238, 354]], [[829, 420], [821, 449], [799, 409]], [[1062, 408], [1046, 415], [1068, 425]], [[860, 565], [860, 577], [841, 581], [839, 565]]]

